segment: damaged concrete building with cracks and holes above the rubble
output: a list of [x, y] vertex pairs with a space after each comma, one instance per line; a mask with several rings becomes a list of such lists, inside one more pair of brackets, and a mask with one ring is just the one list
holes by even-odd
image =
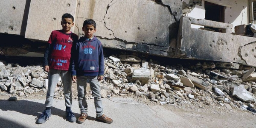
[[[170, 58], [234, 62], [255, 67], [255, 0], [2, 0], [1, 38], [32, 41], [0, 46], [4, 56], [38, 56], [61, 16], [75, 16], [72, 31], [83, 36], [94, 19], [104, 47]], [[251, 23], [251, 24], [250, 24]], [[6, 44], [6, 43], [5, 43]]]

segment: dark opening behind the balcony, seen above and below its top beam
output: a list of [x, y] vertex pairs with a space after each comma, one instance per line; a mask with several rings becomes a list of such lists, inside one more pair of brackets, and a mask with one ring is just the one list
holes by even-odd
[[[205, 8], [205, 19], [217, 21], [217, 22], [224, 22], [224, 11], [225, 6], [220, 6], [214, 3], [209, 3], [204, 1], [204, 8]], [[212, 28], [212, 27], [205, 27], [210, 28], [217, 32], [223, 32], [219, 28]]]

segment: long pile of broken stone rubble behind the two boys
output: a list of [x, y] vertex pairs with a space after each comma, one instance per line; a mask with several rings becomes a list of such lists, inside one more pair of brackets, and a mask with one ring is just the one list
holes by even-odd
[[[160, 104], [252, 110], [256, 102], [255, 82], [254, 67], [224, 62], [199, 62], [189, 67], [181, 64], [163, 66], [151, 59], [146, 61], [125, 54], [105, 57], [104, 79], [100, 81], [103, 98], [135, 95]], [[47, 87], [48, 74], [41, 65], [21, 67], [0, 62], [1, 94], [45, 97]], [[63, 93], [60, 79], [55, 98], [63, 99]], [[75, 100], [76, 94], [73, 93]], [[92, 96], [87, 95], [87, 98]]]

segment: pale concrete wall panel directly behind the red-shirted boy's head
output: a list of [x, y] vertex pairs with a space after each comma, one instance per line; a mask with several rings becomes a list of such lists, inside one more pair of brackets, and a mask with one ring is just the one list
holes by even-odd
[[76, 0], [31, 0], [25, 38], [48, 41], [53, 30], [62, 29], [63, 14], [70, 13], [75, 16], [76, 2]]

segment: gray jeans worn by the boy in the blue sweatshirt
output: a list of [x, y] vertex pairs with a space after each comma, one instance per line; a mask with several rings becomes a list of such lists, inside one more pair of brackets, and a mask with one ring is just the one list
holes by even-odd
[[101, 117], [103, 115], [102, 98], [100, 93], [100, 85], [97, 80], [97, 76], [77, 76], [77, 96], [81, 113], [87, 114], [87, 102], [85, 98], [87, 80], [90, 83], [90, 88], [94, 97], [94, 106], [96, 109], [96, 116]]

